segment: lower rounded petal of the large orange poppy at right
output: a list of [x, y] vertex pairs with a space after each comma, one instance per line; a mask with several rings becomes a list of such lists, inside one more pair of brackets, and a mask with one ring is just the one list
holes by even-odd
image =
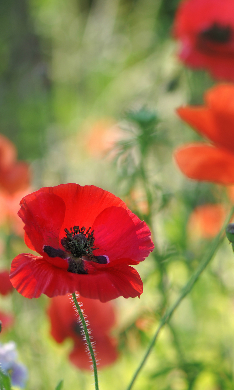
[[225, 185], [234, 183], [234, 155], [224, 149], [202, 143], [189, 144], [177, 149], [175, 158], [190, 179]]

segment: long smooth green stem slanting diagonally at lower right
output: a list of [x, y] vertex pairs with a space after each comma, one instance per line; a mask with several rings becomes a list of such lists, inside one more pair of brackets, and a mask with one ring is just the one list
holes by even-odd
[[231, 210], [230, 210], [230, 213], [229, 215], [227, 216], [226, 220], [225, 220], [225, 223], [222, 227], [222, 229], [220, 230], [218, 236], [216, 236], [216, 238], [213, 240], [212, 244], [211, 244], [211, 247], [209, 249], [209, 251], [207, 252], [207, 254], [204, 256], [204, 258], [202, 259], [202, 261], [200, 262], [197, 270], [193, 273], [193, 275], [191, 276], [191, 278], [188, 280], [187, 284], [184, 286], [184, 288], [182, 289], [181, 291], [181, 294], [180, 296], [177, 298], [177, 300], [175, 301], [175, 303], [167, 310], [167, 312], [165, 313], [165, 315], [162, 317], [161, 321], [160, 321], [160, 324], [158, 326], [158, 329], [154, 335], [154, 337], [152, 338], [152, 341], [147, 349], [147, 352], [145, 353], [145, 356], [144, 358], [142, 359], [142, 362], [140, 363], [139, 367], [137, 368], [137, 371], [135, 372], [127, 390], [131, 390], [135, 380], [137, 379], [138, 377], [138, 374], [140, 373], [142, 367], [144, 366], [149, 354], [151, 353], [151, 350], [152, 350], [152, 347], [154, 346], [157, 338], [158, 338], [158, 335], [160, 333], [160, 330], [161, 328], [163, 328], [163, 326], [169, 321], [170, 317], [172, 316], [172, 314], [174, 313], [174, 311], [176, 310], [176, 308], [179, 306], [179, 304], [181, 303], [181, 301], [184, 299], [184, 297], [186, 297], [186, 295], [188, 295], [188, 293], [190, 293], [191, 289], [193, 288], [193, 285], [195, 284], [195, 282], [197, 282], [199, 276], [201, 275], [202, 271], [204, 271], [204, 269], [206, 268], [206, 266], [209, 264], [209, 262], [211, 261], [213, 255], [215, 254], [216, 250], [218, 249], [218, 247], [220, 246], [220, 244], [222, 243], [223, 241], [223, 238], [224, 238], [224, 235], [223, 235], [223, 232], [225, 230], [225, 227], [227, 225], [227, 223], [229, 223], [232, 215], [234, 213], [234, 206], [232, 206]]

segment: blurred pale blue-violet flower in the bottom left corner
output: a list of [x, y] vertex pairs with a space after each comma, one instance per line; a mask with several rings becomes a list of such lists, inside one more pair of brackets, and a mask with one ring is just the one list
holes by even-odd
[[3, 374], [10, 374], [13, 386], [24, 387], [27, 369], [23, 364], [16, 362], [16, 359], [16, 344], [13, 341], [6, 344], [0, 343], [0, 371]]

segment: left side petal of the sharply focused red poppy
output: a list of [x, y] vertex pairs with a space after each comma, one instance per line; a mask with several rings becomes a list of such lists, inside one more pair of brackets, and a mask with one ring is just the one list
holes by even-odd
[[49, 257], [43, 252], [43, 245], [59, 248], [59, 232], [64, 221], [65, 203], [57, 195], [32, 193], [21, 200], [18, 213], [25, 223], [26, 243], [58, 267], [67, 268], [67, 262], [59, 257]]

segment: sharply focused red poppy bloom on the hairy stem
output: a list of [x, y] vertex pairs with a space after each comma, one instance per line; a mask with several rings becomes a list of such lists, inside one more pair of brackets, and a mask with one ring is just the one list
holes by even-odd
[[41, 257], [20, 254], [11, 282], [27, 298], [78, 291], [106, 302], [142, 294], [135, 268], [154, 245], [145, 222], [121, 199], [95, 186], [61, 184], [24, 197], [19, 215], [25, 243]]

